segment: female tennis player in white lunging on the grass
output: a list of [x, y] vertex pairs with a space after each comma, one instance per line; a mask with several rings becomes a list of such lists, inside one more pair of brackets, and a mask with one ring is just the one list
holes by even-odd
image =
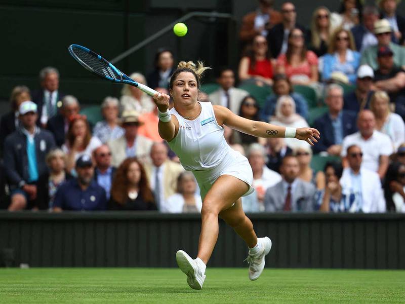
[[264, 269], [264, 257], [271, 240], [257, 238], [250, 219], [242, 209], [241, 197], [251, 194], [253, 174], [247, 158], [225, 141], [223, 125], [257, 137], [295, 137], [311, 145], [319, 132], [313, 128], [285, 128], [241, 118], [228, 108], [198, 101], [200, 78], [208, 67], [201, 62], [180, 62], [170, 80], [174, 107], [169, 110], [169, 95], [156, 93], [158, 129], [161, 138], [192, 171], [200, 187], [201, 233], [198, 254], [192, 259], [179, 250], [176, 260], [193, 289], [202, 289], [205, 271], [218, 238], [218, 216], [223, 218], [249, 247], [249, 278], [256, 280]]

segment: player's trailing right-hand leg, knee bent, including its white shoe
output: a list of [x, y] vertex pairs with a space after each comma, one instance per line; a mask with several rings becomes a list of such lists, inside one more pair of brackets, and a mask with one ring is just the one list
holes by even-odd
[[251, 220], [242, 208], [242, 200], [219, 213], [219, 216], [246, 242], [249, 247], [249, 278], [257, 280], [264, 269], [264, 258], [270, 252], [271, 240], [268, 237], [257, 238]]

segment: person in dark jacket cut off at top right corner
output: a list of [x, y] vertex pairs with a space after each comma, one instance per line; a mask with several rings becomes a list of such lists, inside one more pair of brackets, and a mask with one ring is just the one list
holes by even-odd
[[405, 18], [396, 13], [400, 0], [377, 0], [381, 9], [381, 19], [387, 19], [393, 29], [394, 42], [403, 45], [405, 39]]

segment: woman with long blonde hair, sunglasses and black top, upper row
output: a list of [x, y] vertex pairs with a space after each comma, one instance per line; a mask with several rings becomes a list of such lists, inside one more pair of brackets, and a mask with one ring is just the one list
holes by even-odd
[[318, 7], [312, 14], [310, 50], [320, 57], [328, 52], [328, 42], [332, 35], [331, 12], [327, 7]]

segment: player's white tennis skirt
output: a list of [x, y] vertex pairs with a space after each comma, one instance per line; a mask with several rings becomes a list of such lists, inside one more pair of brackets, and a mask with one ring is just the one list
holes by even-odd
[[249, 190], [242, 196], [250, 195], [255, 191], [252, 187], [252, 167], [250, 166], [248, 159], [238, 151], [233, 149], [229, 150], [229, 153], [226, 154], [222, 162], [216, 167], [204, 171], [192, 171], [198, 182], [201, 199], [203, 201], [214, 182], [221, 175], [231, 175], [246, 182], [249, 185]]

